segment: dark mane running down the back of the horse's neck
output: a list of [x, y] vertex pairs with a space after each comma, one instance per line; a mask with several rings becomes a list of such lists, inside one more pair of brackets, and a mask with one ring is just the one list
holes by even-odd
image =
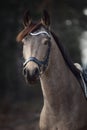
[[59, 38], [56, 36], [56, 34], [54, 32], [51, 31], [51, 34], [57, 44], [57, 46], [59, 47], [61, 54], [65, 60], [65, 63], [68, 65], [68, 67], [70, 68], [70, 70], [73, 72], [73, 74], [76, 76], [76, 78], [78, 80], [81, 79], [80, 77], [80, 71], [75, 67], [75, 65], [73, 64], [70, 55], [68, 54], [68, 51], [66, 50], [65, 46], [63, 46], [63, 44], [59, 41]]

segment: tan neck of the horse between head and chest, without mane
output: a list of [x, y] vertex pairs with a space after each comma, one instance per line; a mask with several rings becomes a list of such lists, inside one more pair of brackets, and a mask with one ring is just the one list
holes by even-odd
[[67, 102], [71, 104], [72, 93], [76, 91], [79, 83], [66, 65], [53, 38], [48, 69], [41, 76], [40, 81], [45, 105], [48, 104], [58, 110], [60, 104], [64, 106]]

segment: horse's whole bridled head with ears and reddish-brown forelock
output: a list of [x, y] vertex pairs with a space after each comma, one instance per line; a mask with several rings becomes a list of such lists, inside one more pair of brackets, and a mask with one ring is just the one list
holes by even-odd
[[47, 69], [51, 48], [50, 18], [44, 11], [39, 22], [32, 21], [29, 11], [24, 15], [24, 30], [17, 39], [23, 43], [23, 72], [29, 83], [34, 83]]

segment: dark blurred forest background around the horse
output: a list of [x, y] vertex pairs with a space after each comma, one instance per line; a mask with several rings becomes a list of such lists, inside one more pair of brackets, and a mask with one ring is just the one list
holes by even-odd
[[42, 91], [39, 83], [35, 86], [26, 84], [22, 75], [22, 44], [16, 42], [17, 34], [23, 29], [22, 18], [26, 9], [35, 19], [40, 18], [43, 9], [47, 9], [51, 28], [66, 46], [73, 62], [82, 64], [84, 61], [82, 50], [87, 47], [87, 0], [1, 1], [0, 130], [38, 130]]

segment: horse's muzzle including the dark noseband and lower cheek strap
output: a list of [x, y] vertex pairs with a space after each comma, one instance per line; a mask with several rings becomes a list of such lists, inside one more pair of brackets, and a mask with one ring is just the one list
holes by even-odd
[[[35, 65], [35, 66], [34, 66]], [[23, 74], [30, 84], [34, 84], [48, 66], [48, 56], [44, 61], [29, 57], [23, 64]]]

